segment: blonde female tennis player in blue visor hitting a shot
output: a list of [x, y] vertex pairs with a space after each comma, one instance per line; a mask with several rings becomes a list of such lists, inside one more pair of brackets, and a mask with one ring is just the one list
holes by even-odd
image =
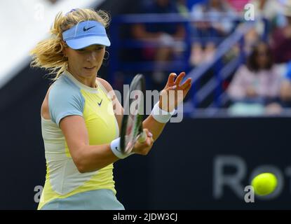
[[[124, 209], [116, 199], [112, 173], [113, 163], [128, 156], [118, 149], [123, 113], [115, 111], [123, 109], [120, 103], [113, 105], [107, 94], [112, 92], [111, 85], [97, 76], [105, 47], [110, 45], [105, 30], [108, 21], [102, 10], [59, 13], [50, 38], [31, 52], [32, 66], [56, 73], [41, 106], [47, 170], [38, 209]], [[182, 90], [185, 97], [191, 80], [181, 84], [184, 75], [176, 78], [171, 73], [163, 92]], [[179, 103], [154, 106], [153, 111], [167, 113], [154, 115], [152, 111], [144, 120], [147, 138], [135, 144], [133, 153], [149, 153]]]

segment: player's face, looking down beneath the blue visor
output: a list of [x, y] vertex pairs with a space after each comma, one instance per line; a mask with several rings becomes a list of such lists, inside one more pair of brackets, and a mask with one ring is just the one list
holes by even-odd
[[102, 65], [105, 47], [104, 45], [90, 45], [79, 50], [66, 48], [66, 54], [70, 71], [79, 76], [92, 77], [96, 76]]

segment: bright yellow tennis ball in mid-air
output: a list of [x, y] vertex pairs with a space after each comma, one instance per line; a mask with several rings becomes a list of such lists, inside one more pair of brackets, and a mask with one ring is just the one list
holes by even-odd
[[252, 179], [251, 185], [254, 188], [256, 195], [269, 195], [277, 187], [277, 178], [271, 173], [259, 174]]

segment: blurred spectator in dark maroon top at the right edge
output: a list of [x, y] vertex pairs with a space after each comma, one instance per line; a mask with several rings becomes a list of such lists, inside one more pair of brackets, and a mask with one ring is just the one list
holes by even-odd
[[287, 19], [287, 25], [273, 32], [271, 46], [275, 62], [289, 62], [291, 60], [291, 3], [288, 3], [283, 14]]

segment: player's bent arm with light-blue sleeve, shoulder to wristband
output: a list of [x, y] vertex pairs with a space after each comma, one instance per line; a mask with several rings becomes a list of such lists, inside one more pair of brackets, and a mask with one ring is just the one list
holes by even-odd
[[[58, 86], [59, 85], [59, 86]], [[111, 142], [90, 145], [83, 118], [85, 99], [79, 89], [56, 83], [48, 97], [50, 118], [65, 136], [69, 153], [79, 172], [93, 172], [119, 160], [111, 150]], [[147, 147], [145, 144], [142, 147]]]

